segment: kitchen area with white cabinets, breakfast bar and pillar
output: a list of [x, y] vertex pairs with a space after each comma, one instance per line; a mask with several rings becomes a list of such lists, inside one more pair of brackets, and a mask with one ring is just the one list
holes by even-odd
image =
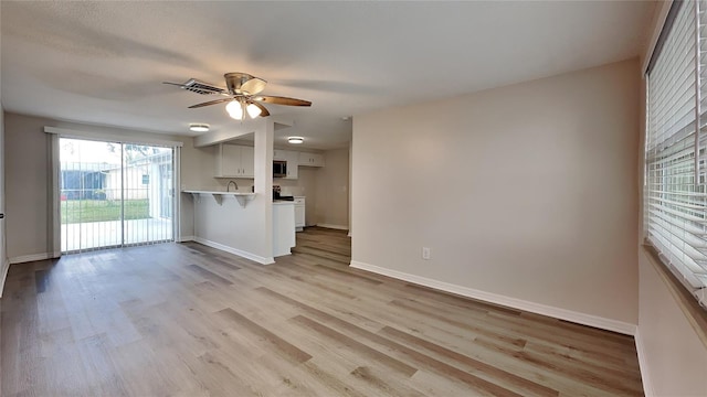
[[348, 148], [275, 148], [263, 130], [213, 144], [196, 141], [191, 155], [199, 158], [189, 162], [197, 167], [182, 165], [181, 184], [182, 217], [193, 235], [179, 240], [267, 265], [289, 255], [295, 234], [307, 226], [348, 229]]

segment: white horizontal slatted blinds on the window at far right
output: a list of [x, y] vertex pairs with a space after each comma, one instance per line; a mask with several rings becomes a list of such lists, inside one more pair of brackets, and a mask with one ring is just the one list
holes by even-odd
[[644, 230], [707, 308], [707, 0], [673, 8], [647, 72]]

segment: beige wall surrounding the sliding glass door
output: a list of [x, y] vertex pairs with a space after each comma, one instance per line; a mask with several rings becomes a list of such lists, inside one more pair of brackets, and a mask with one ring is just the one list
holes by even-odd
[[[116, 129], [57, 121], [12, 112], [4, 115], [6, 132], [6, 208], [7, 255], [11, 259], [40, 257], [51, 253], [49, 233], [49, 172], [51, 157], [49, 135], [44, 127], [57, 127], [97, 133], [120, 135], [126, 139], [152, 138], [182, 141], [182, 183], [196, 183], [199, 157], [194, 154], [193, 141], [189, 137], [173, 137], [141, 131]], [[191, 203], [182, 203], [180, 228], [182, 235], [193, 235]]]

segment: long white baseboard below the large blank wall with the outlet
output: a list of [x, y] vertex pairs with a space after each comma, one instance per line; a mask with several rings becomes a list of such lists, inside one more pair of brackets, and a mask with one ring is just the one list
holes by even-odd
[[476, 290], [473, 288], [456, 286], [453, 283], [433, 280], [426, 277], [415, 276], [398, 270], [387, 269], [374, 265], [351, 260], [351, 267], [368, 270], [374, 273], [392, 277], [399, 280], [413, 282], [416, 285], [439, 289], [445, 292], [456, 293], [463, 297], [478, 299], [482, 301], [505, 305], [508, 308], [525, 310], [531, 313], [548, 315], [555, 319], [566, 320], [573, 323], [589, 325], [602, 330], [613, 331], [625, 335], [635, 335], [636, 325], [623, 321], [611, 320], [598, 315], [585, 314], [572, 310], [555, 308], [547, 304], [529, 302], [523, 299], [510, 298], [497, 293]]

